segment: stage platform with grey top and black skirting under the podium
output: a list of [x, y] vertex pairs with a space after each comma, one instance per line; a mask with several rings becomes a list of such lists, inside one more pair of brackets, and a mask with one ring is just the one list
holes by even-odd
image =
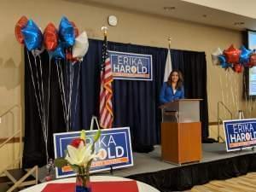
[[[113, 176], [129, 177], [148, 183], [160, 191], [169, 192], [183, 191], [212, 180], [256, 172], [256, 150], [254, 152], [252, 149], [227, 153], [224, 143], [204, 143], [201, 162], [182, 166], [162, 161], [160, 151], [160, 146], [154, 146], [154, 151], [148, 154], [133, 153], [134, 166], [113, 170]], [[44, 178], [45, 171], [45, 166], [40, 168], [39, 178]], [[109, 174], [111, 173], [96, 173]]]

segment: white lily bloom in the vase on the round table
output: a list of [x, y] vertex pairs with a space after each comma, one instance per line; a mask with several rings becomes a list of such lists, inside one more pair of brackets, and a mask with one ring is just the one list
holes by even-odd
[[91, 144], [79, 144], [79, 148], [74, 148], [72, 145], [67, 145], [67, 160], [71, 165], [87, 166], [88, 162], [96, 157], [96, 154], [91, 154]]

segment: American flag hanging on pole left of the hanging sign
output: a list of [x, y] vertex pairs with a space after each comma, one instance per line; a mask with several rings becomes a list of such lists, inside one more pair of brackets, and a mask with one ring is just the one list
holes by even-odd
[[105, 35], [102, 44], [102, 65], [101, 65], [101, 92], [100, 92], [100, 125], [102, 128], [111, 128], [113, 124], [112, 106], [112, 70], [108, 57], [108, 42]]

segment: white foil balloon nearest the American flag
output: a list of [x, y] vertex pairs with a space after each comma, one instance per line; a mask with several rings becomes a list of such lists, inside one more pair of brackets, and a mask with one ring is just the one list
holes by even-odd
[[83, 59], [89, 48], [89, 42], [86, 32], [82, 32], [76, 39], [73, 45], [73, 57]]

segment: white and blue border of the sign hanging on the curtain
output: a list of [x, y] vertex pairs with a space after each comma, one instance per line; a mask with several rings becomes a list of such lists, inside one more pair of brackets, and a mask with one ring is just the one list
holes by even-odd
[[[143, 78], [120, 78], [120, 77], [115, 77], [113, 76], [113, 79], [122, 79], [122, 80], [143, 80], [143, 81], [152, 81], [153, 80], [153, 63], [152, 63], [152, 55], [146, 55], [146, 54], [137, 54], [137, 53], [127, 53], [127, 52], [122, 52], [122, 51], [116, 51], [116, 50], [108, 50], [108, 55], [112, 53], [120, 53], [120, 54], [125, 54], [125, 55], [142, 55], [142, 56], [149, 56], [150, 57], [150, 79], [143, 79]], [[112, 54], [113, 55], [113, 54]], [[144, 57], [143, 57], [144, 58]], [[109, 58], [111, 61], [111, 58]], [[112, 63], [111, 63], [112, 67]], [[113, 71], [112, 71], [113, 72]]]

